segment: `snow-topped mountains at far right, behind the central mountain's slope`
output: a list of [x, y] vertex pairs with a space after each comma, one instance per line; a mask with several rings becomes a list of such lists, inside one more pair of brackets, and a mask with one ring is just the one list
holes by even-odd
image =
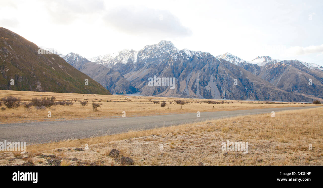
[[[249, 62], [231, 54], [218, 57], [244, 68], [277, 88], [323, 98], [323, 67], [317, 64], [298, 60], [278, 60], [269, 56], [258, 56]], [[308, 79], [312, 80], [314, 87], [308, 86]]]

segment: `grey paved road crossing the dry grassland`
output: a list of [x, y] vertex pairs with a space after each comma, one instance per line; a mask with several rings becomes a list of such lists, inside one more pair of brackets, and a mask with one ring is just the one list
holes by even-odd
[[219, 112], [201, 112], [197, 118], [196, 113], [171, 114], [157, 116], [142, 116], [128, 118], [109, 118], [93, 120], [65, 120], [33, 123], [9, 123], [0, 124], [0, 141], [26, 141], [31, 143], [46, 143], [71, 138], [89, 138], [117, 134], [129, 130], [153, 129], [163, 126], [179, 125], [204, 120], [219, 119], [225, 117], [271, 113], [272, 111], [296, 110], [315, 107], [288, 107], [254, 110], [235, 110]]

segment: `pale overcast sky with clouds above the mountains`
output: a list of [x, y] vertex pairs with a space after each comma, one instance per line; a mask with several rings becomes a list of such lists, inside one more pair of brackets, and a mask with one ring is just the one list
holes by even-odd
[[0, 0], [0, 27], [84, 57], [169, 40], [179, 49], [323, 66], [323, 1]]

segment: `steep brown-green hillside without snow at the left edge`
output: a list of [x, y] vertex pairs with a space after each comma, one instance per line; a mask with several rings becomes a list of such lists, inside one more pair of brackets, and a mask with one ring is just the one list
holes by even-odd
[[[111, 95], [58, 55], [38, 54], [38, 49], [36, 44], [0, 27], [0, 89]], [[14, 85], [10, 85], [11, 79]], [[85, 85], [85, 79], [89, 85]]]

